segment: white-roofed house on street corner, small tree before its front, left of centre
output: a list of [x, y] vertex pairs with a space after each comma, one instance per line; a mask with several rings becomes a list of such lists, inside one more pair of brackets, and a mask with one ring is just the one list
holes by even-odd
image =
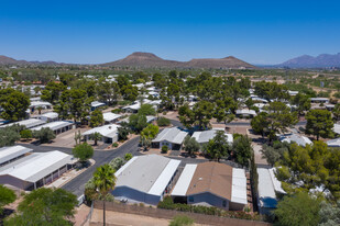
[[101, 140], [103, 143], [116, 143], [118, 142], [119, 137], [118, 137], [118, 127], [120, 127], [119, 125], [116, 124], [109, 124], [109, 125], [103, 125], [103, 126], [99, 126], [99, 127], [95, 127], [91, 128], [87, 132], [85, 132], [83, 134], [84, 139], [88, 140], [91, 138], [91, 135], [95, 133], [99, 133], [102, 137]]

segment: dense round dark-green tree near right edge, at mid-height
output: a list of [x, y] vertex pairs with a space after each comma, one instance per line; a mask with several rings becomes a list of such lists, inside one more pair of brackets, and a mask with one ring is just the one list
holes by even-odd
[[329, 111], [311, 110], [307, 113], [306, 120], [306, 134], [317, 136], [317, 140], [320, 136], [322, 138], [333, 137], [333, 121]]

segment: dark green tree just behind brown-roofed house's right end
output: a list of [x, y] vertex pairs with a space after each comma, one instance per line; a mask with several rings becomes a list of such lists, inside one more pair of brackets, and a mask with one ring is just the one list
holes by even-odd
[[249, 167], [253, 154], [252, 140], [245, 135], [239, 136], [232, 144], [235, 161], [243, 167]]

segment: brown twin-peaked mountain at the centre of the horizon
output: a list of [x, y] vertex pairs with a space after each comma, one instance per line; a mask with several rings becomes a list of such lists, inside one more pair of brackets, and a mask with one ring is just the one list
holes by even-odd
[[103, 64], [103, 66], [113, 67], [164, 67], [164, 68], [255, 68], [255, 66], [242, 61], [235, 57], [226, 58], [202, 58], [191, 59], [190, 61], [176, 61], [162, 59], [161, 57], [151, 54], [135, 52], [123, 59]]

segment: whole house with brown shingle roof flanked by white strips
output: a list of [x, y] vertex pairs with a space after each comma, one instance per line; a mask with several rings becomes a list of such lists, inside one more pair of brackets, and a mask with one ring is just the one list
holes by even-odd
[[248, 204], [245, 171], [213, 161], [186, 165], [172, 197], [191, 205], [242, 211]]

